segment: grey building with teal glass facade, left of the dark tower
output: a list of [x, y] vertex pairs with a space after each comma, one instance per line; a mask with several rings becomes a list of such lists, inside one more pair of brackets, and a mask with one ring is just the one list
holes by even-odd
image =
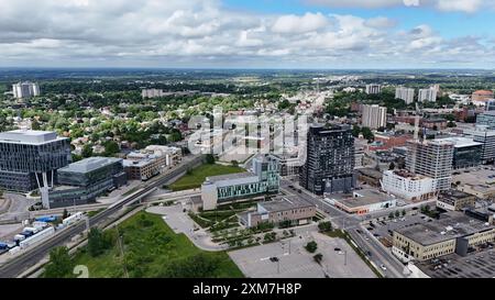
[[276, 193], [279, 188], [278, 163], [271, 156], [253, 158], [252, 171], [207, 177], [201, 186], [204, 210], [218, 203]]

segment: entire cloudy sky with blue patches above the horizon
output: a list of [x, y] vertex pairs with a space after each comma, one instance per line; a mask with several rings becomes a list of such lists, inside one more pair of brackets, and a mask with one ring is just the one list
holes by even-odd
[[0, 0], [0, 67], [495, 68], [495, 0]]

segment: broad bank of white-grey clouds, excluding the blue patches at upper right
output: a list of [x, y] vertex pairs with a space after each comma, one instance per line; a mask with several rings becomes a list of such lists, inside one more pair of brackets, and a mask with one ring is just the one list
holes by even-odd
[[417, 66], [414, 59], [447, 62], [446, 55], [495, 59], [493, 42], [463, 44], [426, 24], [399, 31], [396, 23], [320, 12], [250, 14], [218, 0], [0, 0], [0, 66], [331, 68]]

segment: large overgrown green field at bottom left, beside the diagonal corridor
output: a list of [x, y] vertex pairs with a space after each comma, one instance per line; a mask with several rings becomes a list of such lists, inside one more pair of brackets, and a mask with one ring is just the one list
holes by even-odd
[[127, 274], [131, 278], [243, 277], [227, 253], [197, 248], [186, 235], [175, 234], [160, 215], [139, 212], [119, 225], [119, 233], [123, 256], [112, 229], [111, 248], [91, 257], [84, 247], [75, 254], [75, 265], [86, 265], [91, 278], [122, 278]]

